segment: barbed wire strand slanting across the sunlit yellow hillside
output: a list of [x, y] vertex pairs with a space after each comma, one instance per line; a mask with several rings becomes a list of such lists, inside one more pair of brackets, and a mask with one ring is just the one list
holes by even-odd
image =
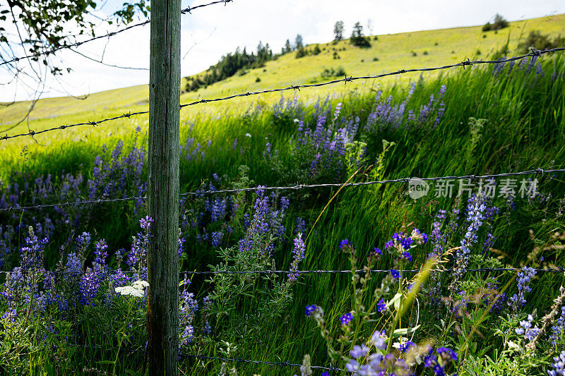
[[[232, 1], [232, 0], [230, 0]], [[218, 2], [227, 2], [226, 1], [217, 1], [215, 4], [217, 4]], [[236, 97], [249, 97], [251, 95], [260, 95], [260, 94], [266, 94], [269, 92], [283, 92], [285, 90], [300, 90], [302, 88], [305, 87], [320, 87], [320, 86], [324, 86], [324, 85], [333, 85], [335, 83], [348, 83], [348, 82], [352, 82], [355, 80], [369, 80], [369, 79], [374, 79], [374, 78], [383, 78], [389, 75], [400, 75], [400, 74], [405, 74], [405, 73], [412, 73], [412, 72], [427, 72], [427, 71], [437, 71], [440, 69], [448, 69], [448, 68], [455, 68], [458, 66], [463, 66], [463, 68], [465, 66], [472, 66], [475, 64], [501, 64], [501, 63], [506, 63], [509, 61], [516, 61], [519, 59], [525, 59], [529, 56], [541, 56], [542, 54], [549, 54], [552, 52], [558, 52], [558, 51], [565, 51], [565, 47], [559, 47], [559, 48], [554, 48], [554, 49], [546, 49], [544, 51], [540, 51], [540, 50], [534, 50], [533, 52], [530, 52], [529, 54], [525, 54], [525, 55], [521, 55], [521, 56], [515, 56], [512, 57], [510, 59], [501, 59], [501, 60], [475, 60], [475, 61], [461, 61], [460, 63], [454, 63], [454, 64], [449, 64], [446, 66], [437, 66], [434, 68], [413, 68], [413, 69], [400, 69], [398, 71], [393, 71], [393, 72], [389, 72], [389, 73], [382, 73], [379, 75], [362, 75], [362, 76], [357, 76], [357, 77], [345, 77], [342, 78], [340, 80], [331, 80], [331, 81], [327, 81], [325, 83], [314, 83], [314, 84], [304, 84], [304, 85], [291, 85], [291, 86], [287, 86], [287, 87], [280, 87], [280, 88], [275, 88], [275, 89], [268, 89], [268, 90], [261, 90], [261, 91], [256, 91], [256, 92], [244, 92], [244, 93], [239, 93], [239, 94], [234, 94], [234, 95], [229, 95], [227, 97], [218, 97], [218, 98], [213, 98], [213, 99], [200, 99], [194, 102], [190, 102], [190, 103], [186, 103], [186, 104], [181, 104], [180, 108], [183, 109], [184, 107], [189, 107], [189, 106], [194, 106], [196, 104], [203, 104], [203, 103], [210, 103], [210, 102], [219, 102], [219, 101], [224, 101], [224, 100], [228, 100], [228, 99], [233, 99]], [[34, 136], [34, 135], [38, 135], [40, 133], [45, 133], [45, 132], [50, 132], [50, 131], [57, 131], [57, 130], [62, 130], [62, 129], [66, 129], [66, 128], [72, 128], [75, 126], [85, 126], [85, 125], [93, 125], [96, 126], [100, 123], [104, 123], [106, 121], [111, 121], [111, 120], [117, 120], [117, 119], [121, 119], [121, 118], [129, 118], [130, 116], [136, 116], [136, 115], [141, 115], [141, 114], [148, 114], [149, 111], [139, 111], [139, 112], [134, 112], [134, 113], [127, 113], [127, 114], [123, 114], [120, 116], [114, 116], [112, 118], [109, 119], [102, 119], [100, 121], [88, 121], [88, 122], [83, 122], [83, 123], [76, 123], [76, 124], [70, 124], [67, 126], [57, 126], [57, 127], [52, 127], [52, 128], [47, 128], [44, 129], [43, 131], [29, 131], [28, 133], [19, 133], [16, 135], [4, 135], [4, 136], [0, 136], [0, 140], [8, 140], [11, 138], [18, 138], [18, 137], [23, 137], [26, 135], [30, 135], [30, 136]]]

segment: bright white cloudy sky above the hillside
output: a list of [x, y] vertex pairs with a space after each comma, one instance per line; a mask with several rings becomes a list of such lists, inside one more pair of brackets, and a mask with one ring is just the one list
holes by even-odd
[[[106, 18], [126, 0], [99, 1], [93, 13]], [[182, 7], [205, 4], [208, 0], [182, 0]], [[305, 44], [329, 42], [333, 25], [345, 23], [350, 35], [357, 22], [367, 35], [393, 34], [417, 30], [433, 30], [458, 26], [483, 25], [500, 13], [507, 20], [523, 20], [565, 13], [563, 0], [234, 0], [231, 3], [198, 8], [182, 16], [182, 75], [206, 70], [222, 55], [237, 47], [255, 50], [259, 41], [280, 51], [287, 39], [294, 41], [301, 34]], [[92, 18], [97, 20], [97, 18]], [[368, 25], [372, 30], [368, 30]], [[2, 25], [0, 25], [2, 26]], [[114, 31], [117, 25], [102, 24], [97, 35]], [[8, 25], [9, 31], [9, 25]], [[72, 30], [69, 30], [72, 31]], [[18, 51], [16, 46], [13, 46]], [[23, 55], [19, 49], [18, 55]], [[83, 44], [77, 51], [108, 64], [130, 68], [149, 66], [149, 25], [133, 28], [110, 38]], [[72, 69], [55, 79], [47, 75], [37, 92], [37, 83], [30, 78], [14, 80], [0, 68], [0, 102], [29, 100], [34, 97], [85, 95], [102, 90], [147, 84], [149, 71], [104, 66], [73, 51], [60, 51], [61, 66]], [[35, 74], [25, 63], [30, 75]], [[21, 75], [20, 75], [21, 76]], [[43, 86], [44, 85], [44, 86]]]

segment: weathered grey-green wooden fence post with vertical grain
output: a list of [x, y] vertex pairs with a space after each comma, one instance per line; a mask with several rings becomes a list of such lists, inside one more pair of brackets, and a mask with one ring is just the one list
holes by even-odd
[[181, 0], [151, 1], [148, 371], [177, 376]]

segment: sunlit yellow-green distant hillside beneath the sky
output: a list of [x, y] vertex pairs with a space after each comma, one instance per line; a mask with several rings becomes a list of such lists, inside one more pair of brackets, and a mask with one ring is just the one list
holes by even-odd
[[[510, 23], [509, 28], [499, 30], [496, 33], [493, 31], [482, 32], [480, 26], [474, 26], [379, 35], [378, 40], [373, 40], [371, 37], [372, 47], [369, 49], [352, 47], [347, 40], [338, 44], [320, 44], [319, 46], [323, 51], [317, 56], [295, 59], [294, 52], [286, 54], [276, 61], [269, 61], [264, 68], [251, 70], [246, 75], [235, 75], [220, 83], [210, 85], [206, 89], [198, 90], [198, 92], [185, 93], [182, 95], [181, 101], [186, 103], [195, 99], [224, 96], [235, 92], [321, 81], [320, 74], [324, 68], [341, 66], [345, 69], [347, 75], [364, 75], [395, 71], [401, 68], [422, 68], [463, 61], [477, 57], [477, 51], [480, 51], [481, 54], [478, 57], [485, 57], [499, 49], [506, 43], [506, 40], [510, 42], [511, 51], [516, 49], [518, 42], [523, 40], [523, 37], [528, 35], [530, 30], [541, 30], [542, 33], [552, 36], [557, 36], [560, 33], [565, 34], [565, 14], [513, 22]], [[313, 45], [309, 46], [309, 49], [311, 48], [313, 48]], [[338, 50], [340, 59], [333, 59], [334, 49]], [[413, 56], [414, 54], [416, 56]], [[435, 74], [427, 73], [426, 75], [432, 77]], [[261, 81], [256, 82], [256, 78], [260, 78]], [[417, 75], [407, 74], [376, 82], [352, 83], [348, 84], [347, 87], [335, 85], [303, 90], [299, 95], [302, 99], [311, 99], [328, 91], [343, 93], [351, 90], [366, 90], [367, 87], [374, 85], [382, 85], [397, 80], [407, 82], [415, 78], [417, 78]], [[285, 95], [292, 96], [292, 93], [287, 92]], [[187, 121], [194, 121], [198, 116], [215, 114], [216, 111], [227, 110], [237, 113], [249, 107], [249, 104], [253, 101], [273, 102], [278, 100], [279, 97], [279, 94], [273, 94], [263, 95], [259, 99], [243, 98], [217, 104], [198, 105], [182, 111], [182, 118]], [[17, 102], [11, 106], [0, 108], [0, 130], [4, 130], [22, 119], [29, 106], [29, 102]], [[140, 111], [147, 108], [148, 90], [145, 85], [99, 92], [83, 100], [71, 97], [42, 99], [32, 111], [30, 128], [39, 131], [52, 126], [102, 119], [127, 111]], [[146, 116], [139, 116], [139, 119], [136, 120], [113, 121], [95, 129], [86, 126], [57, 132], [57, 135], [47, 133], [47, 135], [37, 136], [36, 140], [41, 145], [49, 145], [52, 142], [57, 144], [61, 140], [79, 142], [90, 139], [94, 139], [95, 143], [100, 143], [101, 140], [112, 138], [112, 135], [131, 133], [136, 125], [143, 126], [146, 123]], [[8, 135], [20, 133], [27, 131], [27, 128], [27, 124], [23, 123], [11, 131], [2, 133]], [[37, 144], [29, 138], [20, 138], [8, 142], [2, 141], [0, 150], [5, 150], [5, 152], [0, 157], [0, 164], [6, 156], [20, 150], [23, 145], [29, 145], [32, 150], [37, 147]]]

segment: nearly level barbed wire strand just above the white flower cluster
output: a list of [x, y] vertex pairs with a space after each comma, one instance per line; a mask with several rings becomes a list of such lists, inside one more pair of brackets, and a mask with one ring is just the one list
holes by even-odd
[[[565, 267], [562, 266], [553, 266], [548, 268], [532, 268], [534, 272], [539, 273], [565, 273]], [[417, 273], [421, 272], [422, 269], [395, 269], [397, 272], [402, 273]], [[445, 268], [445, 269], [430, 269], [430, 272], [439, 272], [439, 273], [449, 273], [455, 271], [456, 268]], [[475, 269], [465, 269], [464, 272], [466, 273], [480, 273], [480, 272], [520, 272], [522, 268], [520, 267], [480, 267]], [[133, 270], [121, 270], [123, 274], [139, 274], [138, 272], [134, 272]], [[369, 274], [382, 274], [382, 273], [390, 273], [391, 269], [345, 269], [345, 270], [324, 270], [324, 269], [312, 269], [312, 270], [297, 270], [297, 271], [289, 271], [289, 270], [200, 270], [200, 271], [191, 271], [185, 270], [184, 272], [179, 272], [179, 276], [182, 277], [184, 275], [188, 276], [190, 274], [194, 275], [208, 275], [208, 274], [360, 274], [360, 273], [369, 273]], [[0, 274], [10, 274], [11, 272], [8, 271], [0, 271]], [[32, 270], [31, 274], [75, 274], [79, 275], [81, 272], [69, 272], [66, 270]], [[564, 274], [565, 275], [565, 274]]]

